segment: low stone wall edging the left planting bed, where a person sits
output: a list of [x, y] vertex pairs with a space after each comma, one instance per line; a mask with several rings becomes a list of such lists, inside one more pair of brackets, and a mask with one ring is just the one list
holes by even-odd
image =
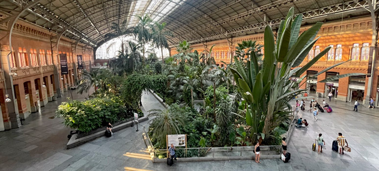
[[[149, 120], [149, 117], [147, 115], [138, 119], [138, 121], [140, 123], [144, 122], [144, 121], [147, 121], [147, 120]], [[129, 121], [127, 123], [124, 123], [124, 124], [121, 124], [121, 125], [113, 127], [112, 128], [112, 132], [117, 132], [117, 131], [122, 130], [124, 128], [132, 127], [132, 125], [133, 125], [132, 121]], [[91, 135], [88, 135], [88, 136], [85, 136], [85, 137], [79, 138], [79, 139], [76, 139], [76, 137], [78, 136], [78, 134], [73, 134], [71, 136], [69, 142], [67, 143], [66, 148], [67, 149], [71, 149], [73, 147], [76, 147], [76, 146], [82, 145], [84, 143], [90, 142], [92, 140], [95, 140], [96, 138], [105, 136], [104, 132], [105, 132], [105, 130], [104, 131], [100, 131], [100, 132], [96, 132], [94, 134], [91, 134]]]

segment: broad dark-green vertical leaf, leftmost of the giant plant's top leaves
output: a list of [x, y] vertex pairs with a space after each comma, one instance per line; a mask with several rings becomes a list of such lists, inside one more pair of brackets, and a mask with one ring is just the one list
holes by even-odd
[[264, 28], [264, 59], [263, 59], [263, 84], [270, 81], [271, 73], [273, 71], [273, 63], [275, 62], [275, 40], [272, 29], [269, 25]]

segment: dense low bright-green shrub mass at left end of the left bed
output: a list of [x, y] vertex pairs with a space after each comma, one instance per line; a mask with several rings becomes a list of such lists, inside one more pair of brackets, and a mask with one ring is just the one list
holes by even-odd
[[88, 132], [133, 116], [118, 97], [93, 98], [84, 102], [63, 102], [56, 110], [56, 117], [70, 128]]

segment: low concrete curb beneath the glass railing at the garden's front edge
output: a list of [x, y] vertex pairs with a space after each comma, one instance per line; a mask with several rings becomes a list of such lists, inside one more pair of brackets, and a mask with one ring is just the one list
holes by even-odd
[[[261, 155], [261, 159], [278, 159], [280, 155]], [[190, 157], [178, 158], [174, 162], [205, 162], [205, 161], [228, 161], [228, 160], [255, 160], [255, 156], [219, 156], [219, 157]], [[167, 158], [154, 159], [154, 163], [166, 163]]]

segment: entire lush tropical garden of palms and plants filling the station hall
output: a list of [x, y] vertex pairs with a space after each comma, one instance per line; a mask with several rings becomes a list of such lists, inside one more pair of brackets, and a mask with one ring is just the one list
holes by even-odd
[[[126, 28], [126, 21], [114, 23], [114, 33], [108, 37], [131, 35], [135, 41], [120, 39], [120, 51], [110, 69], [84, 71], [77, 92], [94, 89], [94, 93], [84, 102], [63, 103], [56, 116], [66, 126], [88, 132], [129, 119], [133, 112], [143, 116], [142, 92], [151, 90], [167, 106], [149, 111], [154, 119], [148, 134], [155, 149], [166, 149], [168, 134], [187, 134], [187, 148], [254, 146], [256, 142], [280, 145], [292, 119], [290, 103], [301, 99], [307, 89], [299, 88], [305, 84], [305, 72], [330, 49], [304, 61], [319, 39], [322, 23], [300, 34], [302, 18], [294, 16], [291, 8], [276, 35], [269, 25], [265, 27], [264, 46], [253, 41], [238, 43], [233, 63], [222, 67], [216, 65], [212, 47], [192, 51], [185, 40], [178, 43], [177, 54], [162, 60], [145, 49], [146, 43], [168, 47], [166, 37], [171, 34], [166, 23], [152, 23], [148, 16], [140, 17], [132, 28]], [[321, 82], [352, 75], [361, 74], [342, 74]]]

